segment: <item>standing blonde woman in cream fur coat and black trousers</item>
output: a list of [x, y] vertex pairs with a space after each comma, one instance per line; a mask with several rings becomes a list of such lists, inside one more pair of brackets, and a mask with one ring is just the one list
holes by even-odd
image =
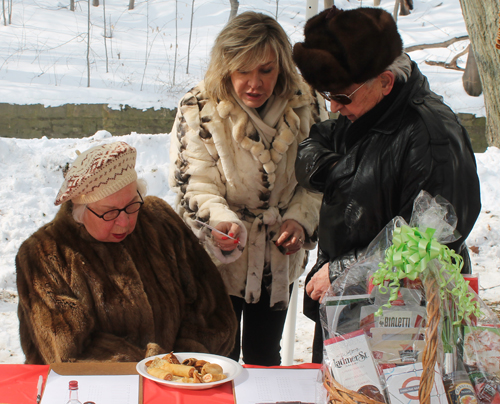
[[[245, 363], [281, 361], [291, 285], [304, 270], [305, 249], [315, 246], [320, 205], [297, 186], [294, 162], [325, 114], [297, 74], [282, 27], [254, 12], [221, 31], [204, 82], [179, 103], [170, 186], [243, 316]], [[240, 332], [230, 357], [240, 357]]]

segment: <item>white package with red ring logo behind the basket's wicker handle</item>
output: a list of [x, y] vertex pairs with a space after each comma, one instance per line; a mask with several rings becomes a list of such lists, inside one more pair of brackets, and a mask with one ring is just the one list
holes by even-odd
[[[422, 363], [395, 366], [384, 369], [385, 384], [390, 404], [418, 404], [418, 389], [422, 376]], [[434, 369], [434, 386], [431, 390], [430, 404], [447, 404], [443, 379], [439, 366]]]

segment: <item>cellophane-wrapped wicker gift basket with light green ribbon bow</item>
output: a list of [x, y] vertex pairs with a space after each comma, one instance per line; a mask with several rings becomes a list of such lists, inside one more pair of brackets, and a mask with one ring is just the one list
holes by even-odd
[[422, 191], [410, 224], [394, 218], [332, 283], [320, 305], [326, 402], [500, 403], [500, 323], [446, 246], [455, 228], [453, 207]]

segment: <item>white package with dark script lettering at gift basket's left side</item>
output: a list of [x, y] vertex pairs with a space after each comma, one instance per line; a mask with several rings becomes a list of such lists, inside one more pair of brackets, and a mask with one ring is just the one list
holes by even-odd
[[362, 330], [324, 342], [333, 378], [346, 389], [386, 402], [379, 373]]

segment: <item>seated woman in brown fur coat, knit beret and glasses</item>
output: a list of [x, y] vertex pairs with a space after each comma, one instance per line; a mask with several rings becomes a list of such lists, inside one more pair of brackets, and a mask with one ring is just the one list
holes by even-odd
[[227, 355], [236, 317], [221, 276], [180, 217], [145, 196], [124, 142], [80, 154], [54, 220], [16, 257], [26, 363]]

